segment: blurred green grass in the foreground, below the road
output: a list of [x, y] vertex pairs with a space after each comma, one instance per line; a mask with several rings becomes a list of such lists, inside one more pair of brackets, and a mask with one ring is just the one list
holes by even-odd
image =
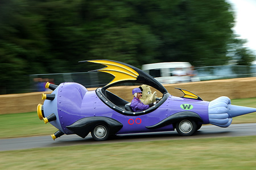
[[256, 136], [0, 152], [1, 169], [255, 169]]

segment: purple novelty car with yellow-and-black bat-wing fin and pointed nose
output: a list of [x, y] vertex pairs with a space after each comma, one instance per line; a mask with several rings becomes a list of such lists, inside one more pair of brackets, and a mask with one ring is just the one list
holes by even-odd
[[[184, 89], [180, 89], [183, 97], [172, 96], [149, 74], [125, 63], [111, 60], [88, 62], [105, 65], [97, 71], [110, 73], [114, 79], [94, 91], [74, 82], [58, 86], [47, 83], [46, 88], [53, 92], [43, 94], [42, 98], [46, 100], [43, 105], [38, 105], [38, 116], [59, 129], [51, 135], [53, 140], [64, 134], [85, 138], [91, 132], [94, 140], [106, 140], [111, 135], [175, 129], [181, 136], [189, 136], [203, 124], [228, 127], [233, 117], [256, 111], [251, 107], [231, 105], [228, 97], [203, 101]], [[163, 94], [162, 99], [147, 110], [133, 112], [128, 101], [107, 90], [120, 82], [150, 85]]]

